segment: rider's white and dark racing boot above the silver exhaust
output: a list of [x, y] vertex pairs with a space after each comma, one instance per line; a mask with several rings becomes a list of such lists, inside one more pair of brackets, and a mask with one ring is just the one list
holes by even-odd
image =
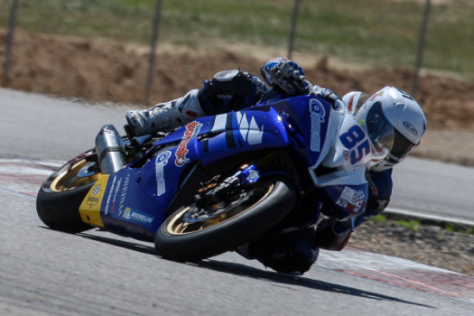
[[160, 103], [147, 110], [131, 110], [125, 115], [129, 131], [133, 136], [153, 135], [172, 130], [204, 116], [198, 100], [198, 89], [189, 91], [184, 97]]

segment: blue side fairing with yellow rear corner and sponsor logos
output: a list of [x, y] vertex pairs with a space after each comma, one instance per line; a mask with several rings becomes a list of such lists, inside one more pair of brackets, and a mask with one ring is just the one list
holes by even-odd
[[[80, 206], [81, 218], [120, 235], [153, 240], [192, 168], [226, 162], [239, 154], [281, 149], [292, 155], [298, 168], [309, 170], [313, 181], [321, 180], [315, 171], [330, 153], [343, 117], [323, 99], [302, 96], [199, 118], [157, 141], [143, 158], [102, 175]], [[363, 189], [345, 186], [349, 179], [335, 181], [337, 175], [327, 181], [334, 188], [326, 196], [335, 199], [340, 217], [352, 216], [363, 204], [355, 194], [347, 197], [352, 191], [362, 197]], [[367, 199], [367, 190], [363, 192]]]

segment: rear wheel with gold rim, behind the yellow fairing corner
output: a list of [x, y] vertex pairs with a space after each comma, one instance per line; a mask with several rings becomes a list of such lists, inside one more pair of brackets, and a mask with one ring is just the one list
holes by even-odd
[[43, 182], [36, 210], [48, 227], [71, 233], [93, 228], [80, 218], [79, 206], [100, 176], [97, 165], [91, 163], [94, 156], [92, 151], [82, 153]]

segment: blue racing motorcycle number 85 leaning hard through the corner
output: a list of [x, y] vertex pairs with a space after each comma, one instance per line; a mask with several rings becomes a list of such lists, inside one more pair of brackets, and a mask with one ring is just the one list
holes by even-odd
[[[154, 242], [178, 261], [314, 227], [321, 209], [355, 218], [367, 202], [367, 133], [313, 95], [199, 118], [169, 134], [120, 136], [44, 181], [39, 217], [72, 233], [101, 228]], [[327, 212], [326, 212], [327, 213]]]

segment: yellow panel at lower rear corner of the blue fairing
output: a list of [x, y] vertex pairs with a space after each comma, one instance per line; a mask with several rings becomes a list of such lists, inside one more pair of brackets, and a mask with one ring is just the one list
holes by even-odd
[[88, 195], [86, 195], [86, 198], [79, 207], [80, 218], [98, 228], [104, 228], [104, 223], [102, 218], [100, 218], [100, 206], [107, 188], [108, 176], [108, 174], [103, 174], [98, 178], [98, 181], [90, 188]]

